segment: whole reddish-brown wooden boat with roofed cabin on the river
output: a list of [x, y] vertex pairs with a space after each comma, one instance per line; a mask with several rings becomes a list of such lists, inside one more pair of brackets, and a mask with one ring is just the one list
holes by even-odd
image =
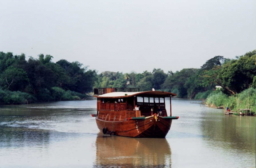
[[[97, 126], [104, 134], [164, 138], [170, 130], [172, 120], [179, 118], [172, 117], [172, 96], [176, 94], [162, 91], [139, 92], [138, 88], [94, 89], [97, 114], [92, 116], [96, 117]], [[167, 116], [165, 98], [170, 98], [170, 116]], [[139, 110], [136, 110], [136, 105]], [[158, 110], [159, 107], [161, 110]]]

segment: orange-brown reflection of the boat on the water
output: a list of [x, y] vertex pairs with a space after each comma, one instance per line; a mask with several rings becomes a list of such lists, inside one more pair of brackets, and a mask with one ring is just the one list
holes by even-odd
[[166, 139], [138, 139], [98, 135], [94, 168], [171, 167]]

